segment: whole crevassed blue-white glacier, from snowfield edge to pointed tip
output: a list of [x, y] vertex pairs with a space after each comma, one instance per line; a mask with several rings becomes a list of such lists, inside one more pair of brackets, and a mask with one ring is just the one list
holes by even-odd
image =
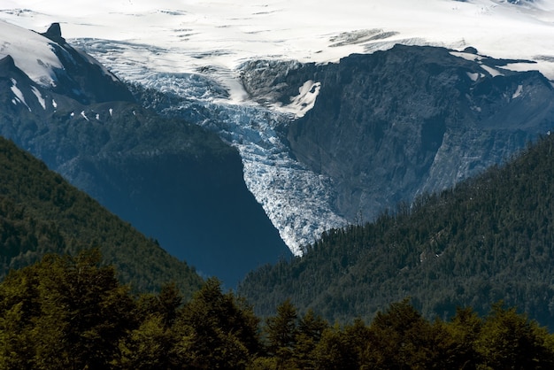
[[[119, 78], [179, 96], [178, 105], [158, 110], [213, 130], [234, 145], [242, 157], [246, 186], [296, 256], [302, 255], [305, 246], [313, 243], [324, 231], [347, 224], [347, 220], [334, 210], [336, 195], [331, 180], [297, 162], [279, 135], [280, 127], [306, 112], [306, 104], [298, 104], [303, 110], [297, 114], [287, 109], [269, 109], [253, 102], [239, 101], [236, 96], [245, 96], [246, 93], [238, 91], [236, 84], [226, 83], [237, 81], [236, 76], [229, 75], [233, 71], [213, 67], [212, 71], [204, 70], [198, 74], [159, 73], [152, 72], [146, 64], [136, 60], [129, 62], [126, 58], [113, 58], [114, 54], [121, 54], [121, 49], [138, 47], [134, 44], [97, 39], [80, 39], [73, 43], [108, 66]], [[213, 78], [208, 77], [210, 75]], [[314, 100], [319, 83], [307, 81], [304, 89], [304, 96], [302, 89], [299, 90], [300, 96], [305, 100], [312, 90], [311, 99]], [[312, 104], [312, 101], [308, 103]]]

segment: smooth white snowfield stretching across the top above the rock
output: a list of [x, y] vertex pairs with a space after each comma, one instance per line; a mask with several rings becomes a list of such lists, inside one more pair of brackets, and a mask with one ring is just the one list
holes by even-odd
[[554, 79], [553, 63], [540, 58], [554, 56], [552, 0], [4, 0], [0, 18], [40, 32], [60, 22], [65, 38], [155, 46], [112, 57], [157, 72], [233, 72], [251, 58], [324, 63], [419, 40], [536, 60], [528, 67]]

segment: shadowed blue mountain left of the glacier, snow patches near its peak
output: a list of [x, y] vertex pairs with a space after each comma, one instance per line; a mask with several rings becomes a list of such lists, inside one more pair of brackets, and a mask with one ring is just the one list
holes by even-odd
[[[0, 26], [11, 35], [3, 36], [3, 53], [11, 54], [0, 62], [0, 135], [230, 287], [289, 254], [246, 189], [237, 151], [217, 135], [142, 108], [123, 82], [67, 44], [58, 26], [44, 35]], [[29, 62], [19, 50], [26, 40], [37, 50], [46, 45], [39, 59], [50, 62]]]

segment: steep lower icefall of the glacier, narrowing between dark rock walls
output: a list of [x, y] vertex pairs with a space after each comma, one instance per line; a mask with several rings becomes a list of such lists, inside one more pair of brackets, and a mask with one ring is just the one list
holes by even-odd
[[296, 162], [281, 142], [276, 128], [289, 116], [257, 105], [205, 106], [209, 112], [219, 113], [218, 119], [204, 120], [204, 126], [219, 132], [239, 150], [246, 186], [290, 251], [302, 255], [304, 247], [322, 232], [346, 225], [332, 209], [335, 194], [330, 179]]

